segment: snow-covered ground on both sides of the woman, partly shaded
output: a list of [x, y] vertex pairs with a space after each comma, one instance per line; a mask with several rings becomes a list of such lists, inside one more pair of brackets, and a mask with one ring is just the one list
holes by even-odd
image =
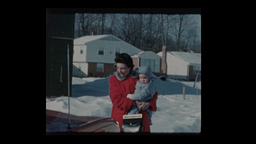
[[[70, 114], [76, 116], [111, 116], [112, 102], [106, 78], [72, 77]], [[157, 110], [152, 113], [151, 133], [200, 133], [201, 82], [160, 80], [154, 77], [158, 99]], [[183, 99], [185, 87], [185, 99]], [[68, 96], [46, 98], [46, 109], [68, 114]], [[72, 123], [70, 124], [72, 126]], [[46, 125], [46, 132], [65, 132], [67, 126], [58, 123]]]

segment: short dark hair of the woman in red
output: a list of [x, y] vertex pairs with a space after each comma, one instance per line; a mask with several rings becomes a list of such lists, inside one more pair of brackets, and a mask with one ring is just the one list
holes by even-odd
[[126, 53], [116, 55], [115, 62], [126, 64], [128, 66], [128, 68], [131, 68], [131, 70], [134, 67], [131, 56]]

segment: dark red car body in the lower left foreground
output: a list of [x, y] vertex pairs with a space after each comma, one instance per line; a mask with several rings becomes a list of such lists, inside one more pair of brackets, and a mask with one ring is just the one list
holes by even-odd
[[75, 116], [46, 109], [46, 134], [119, 133], [119, 126], [112, 118]]

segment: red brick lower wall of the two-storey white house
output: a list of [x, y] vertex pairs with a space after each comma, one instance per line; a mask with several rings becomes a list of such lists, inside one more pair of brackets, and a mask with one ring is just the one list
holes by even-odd
[[97, 72], [97, 63], [96, 62], [88, 63], [88, 77], [106, 77], [113, 72], [116, 72], [116, 68], [114, 68], [114, 64], [103, 63], [103, 72]]

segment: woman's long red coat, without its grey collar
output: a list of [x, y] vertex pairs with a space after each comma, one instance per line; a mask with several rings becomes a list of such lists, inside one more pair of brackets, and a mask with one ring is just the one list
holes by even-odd
[[[119, 124], [120, 132], [122, 131], [123, 115], [127, 114], [128, 110], [132, 106], [133, 100], [127, 98], [127, 94], [134, 94], [136, 82], [140, 78], [131, 78], [127, 76], [125, 80], [119, 81], [116, 75], [109, 78], [110, 83], [110, 99], [113, 107], [111, 112], [111, 118], [113, 118]], [[152, 112], [156, 111], [156, 99], [158, 93], [155, 94], [154, 98], [148, 100], [150, 107], [148, 108]], [[145, 110], [141, 110], [143, 132], [150, 132], [148, 115]]]

